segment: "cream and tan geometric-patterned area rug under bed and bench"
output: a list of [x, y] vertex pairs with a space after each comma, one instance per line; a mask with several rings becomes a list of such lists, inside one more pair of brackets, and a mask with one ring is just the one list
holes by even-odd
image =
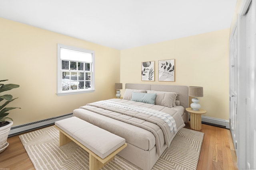
[[[89, 170], [89, 154], [74, 142], [59, 147], [59, 131], [46, 127], [20, 135], [36, 170]], [[204, 133], [182, 128], [152, 170], [196, 170]], [[116, 155], [102, 170], [140, 170]]]

